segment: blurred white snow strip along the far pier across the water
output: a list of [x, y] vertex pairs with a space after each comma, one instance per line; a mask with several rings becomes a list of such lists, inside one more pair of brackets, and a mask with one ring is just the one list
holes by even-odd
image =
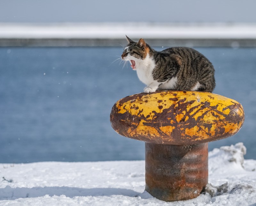
[[0, 38], [78, 38], [78, 39], [255, 39], [253, 23], [0, 23]]

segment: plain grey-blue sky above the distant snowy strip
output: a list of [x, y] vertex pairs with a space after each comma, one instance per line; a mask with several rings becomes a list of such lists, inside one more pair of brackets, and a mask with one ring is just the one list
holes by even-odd
[[0, 0], [0, 22], [256, 22], [255, 0]]

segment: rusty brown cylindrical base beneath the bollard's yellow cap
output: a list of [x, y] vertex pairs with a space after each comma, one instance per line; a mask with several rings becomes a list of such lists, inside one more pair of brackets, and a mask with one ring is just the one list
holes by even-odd
[[145, 190], [163, 201], [196, 198], [208, 183], [208, 143], [145, 143]]

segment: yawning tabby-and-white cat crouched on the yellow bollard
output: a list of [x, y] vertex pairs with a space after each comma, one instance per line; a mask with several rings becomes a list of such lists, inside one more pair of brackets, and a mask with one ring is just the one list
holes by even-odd
[[212, 92], [215, 88], [214, 67], [203, 54], [188, 47], [152, 49], [143, 39], [128, 44], [121, 56], [129, 61], [144, 84], [145, 93], [156, 90]]

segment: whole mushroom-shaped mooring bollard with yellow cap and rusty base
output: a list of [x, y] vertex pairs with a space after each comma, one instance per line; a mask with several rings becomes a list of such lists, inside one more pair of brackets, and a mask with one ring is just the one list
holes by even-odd
[[164, 201], [197, 197], [208, 183], [208, 142], [236, 134], [240, 103], [208, 92], [157, 91], [127, 96], [110, 114], [120, 135], [145, 141], [146, 188]]

